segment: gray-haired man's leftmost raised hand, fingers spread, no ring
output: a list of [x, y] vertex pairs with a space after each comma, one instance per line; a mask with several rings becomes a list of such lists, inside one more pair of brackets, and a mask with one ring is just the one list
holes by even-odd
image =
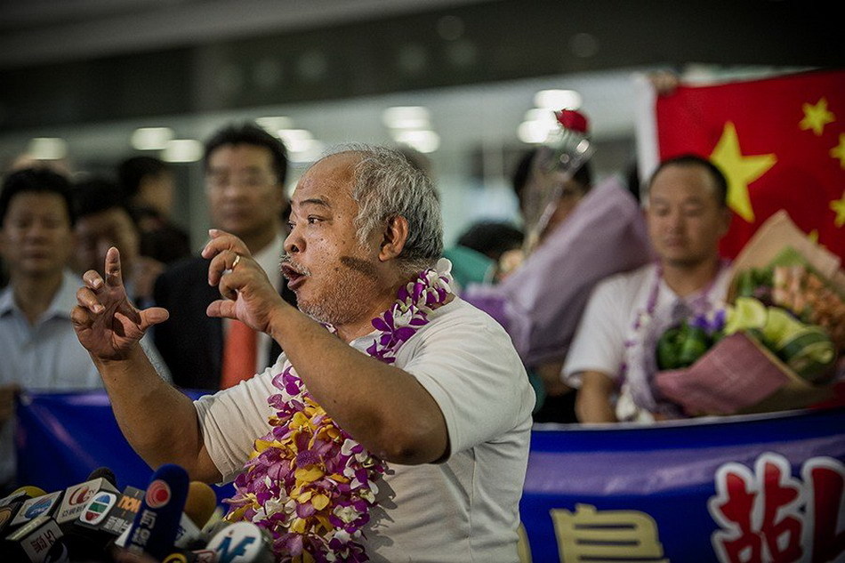
[[169, 317], [167, 310], [136, 309], [129, 301], [120, 269], [120, 253], [112, 246], [106, 253], [106, 277], [93, 269], [83, 275], [84, 286], [76, 291], [76, 307], [70, 312], [76, 337], [93, 357], [127, 358], [150, 326]]

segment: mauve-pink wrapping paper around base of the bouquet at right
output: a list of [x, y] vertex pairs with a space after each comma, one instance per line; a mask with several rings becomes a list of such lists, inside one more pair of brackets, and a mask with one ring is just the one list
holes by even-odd
[[801, 408], [831, 394], [793, 374], [744, 333], [723, 338], [686, 369], [658, 372], [655, 386], [690, 416]]

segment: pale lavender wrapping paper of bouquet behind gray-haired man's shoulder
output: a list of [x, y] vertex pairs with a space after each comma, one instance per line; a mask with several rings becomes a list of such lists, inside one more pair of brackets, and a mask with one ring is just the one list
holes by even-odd
[[615, 178], [575, 211], [497, 286], [472, 285], [463, 299], [499, 321], [528, 366], [560, 361], [593, 286], [652, 259], [640, 206]]

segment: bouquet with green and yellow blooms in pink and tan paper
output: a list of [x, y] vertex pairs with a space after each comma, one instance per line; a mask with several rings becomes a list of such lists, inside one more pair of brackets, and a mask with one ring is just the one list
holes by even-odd
[[831, 397], [845, 356], [845, 285], [831, 256], [785, 213], [773, 216], [737, 257], [725, 309], [672, 326], [656, 342], [657, 391], [689, 415]]

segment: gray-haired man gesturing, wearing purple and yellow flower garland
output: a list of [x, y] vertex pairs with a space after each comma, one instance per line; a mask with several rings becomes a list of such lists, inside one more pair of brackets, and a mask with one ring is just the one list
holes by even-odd
[[431, 181], [390, 149], [344, 148], [294, 191], [284, 302], [237, 237], [203, 255], [221, 299], [285, 352], [191, 402], [137, 341], [167, 317], [125, 299], [115, 249], [73, 319], [126, 437], [151, 466], [235, 480], [227, 516], [278, 560], [517, 561], [535, 398], [503, 328], [457, 297]]

